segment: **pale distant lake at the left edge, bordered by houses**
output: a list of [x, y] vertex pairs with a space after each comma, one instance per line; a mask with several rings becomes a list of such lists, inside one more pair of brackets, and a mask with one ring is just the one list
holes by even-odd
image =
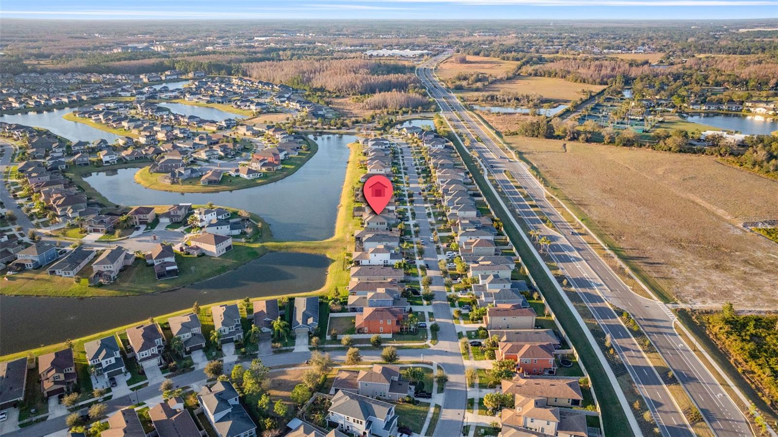
[[25, 114], [6, 114], [0, 116], [0, 122], [19, 123], [20, 125], [33, 126], [48, 129], [54, 134], [67, 138], [73, 143], [76, 141], [92, 142], [96, 139], [105, 139], [113, 143], [121, 136], [109, 132], [103, 132], [92, 126], [78, 122], [70, 122], [62, 118], [63, 115], [75, 111], [75, 107], [53, 109], [45, 112], [27, 112]]

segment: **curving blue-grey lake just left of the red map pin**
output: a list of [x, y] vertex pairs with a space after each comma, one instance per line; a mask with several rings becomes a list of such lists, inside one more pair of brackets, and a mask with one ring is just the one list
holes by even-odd
[[95, 173], [89, 185], [118, 205], [209, 202], [251, 211], [270, 224], [277, 240], [323, 240], [335, 231], [335, 217], [349, 160], [350, 135], [313, 137], [319, 150], [295, 174], [268, 185], [232, 192], [166, 192], [135, 182], [137, 168]]

